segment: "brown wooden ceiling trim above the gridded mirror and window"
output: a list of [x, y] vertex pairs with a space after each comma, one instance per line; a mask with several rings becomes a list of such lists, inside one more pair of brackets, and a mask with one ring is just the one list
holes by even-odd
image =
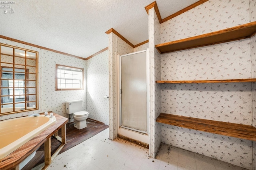
[[49, 49], [49, 48], [42, 47], [42, 46], [39, 46], [39, 45], [35, 45], [35, 44], [32, 44], [32, 43], [27, 43], [27, 42], [25, 42], [25, 41], [20, 41], [20, 40], [18, 40], [18, 39], [6, 37], [6, 36], [4, 36], [4, 35], [0, 35], [0, 38], [2, 38], [2, 39], [7, 39], [7, 40], [10, 40], [10, 41], [14, 41], [14, 42], [17, 42], [17, 43], [22, 43], [22, 44], [25, 44], [25, 45], [30, 45], [30, 46], [32, 46], [32, 47], [36, 47], [36, 48], [40, 48], [40, 49], [52, 51], [52, 52], [54, 52], [54, 53], [59, 53], [59, 54], [63, 54], [63, 55], [68, 55], [68, 56], [70, 56], [70, 57], [75, 57], [75, 58], [78, 58], [78, 59], [85, 60], [85, 58], [83, 58], [83, 57], [78, 57], [78, 56], [76, 56], [76, 55], [64, 53], [64, 52], [57, 51], [57, 50], [54, 50], [54, 49]]

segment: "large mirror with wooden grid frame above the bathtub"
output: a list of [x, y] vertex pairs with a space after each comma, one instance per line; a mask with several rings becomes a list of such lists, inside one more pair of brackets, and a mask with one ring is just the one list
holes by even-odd
[[0, 43], [0, 115], [38, 109], [38, 52]]

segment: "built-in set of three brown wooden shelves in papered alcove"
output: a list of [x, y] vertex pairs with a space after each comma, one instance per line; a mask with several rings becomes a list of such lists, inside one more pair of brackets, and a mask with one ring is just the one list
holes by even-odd
[[[229, 41], [246, 39], [256, 34], [256, 21], [238, 25], [236, 27], [206, 33], [195, 37], [171, 41], [156, 45], [159, 53], [170, 53], [184, 49], [192, 49]], [[231, 82], [256, 82], [256, 78], [229, 79], [229, 80], [157, 80], [156, 83], [231, 83]], [[180, 115], [160, 113], [156, 119], [157, 122], [185, 127], [198, 131], [237, 137], [256, 141], [256, 128], [250, 125], [228, 123], [222, 121], [213, 121], [207, 119], [198, 119]]]

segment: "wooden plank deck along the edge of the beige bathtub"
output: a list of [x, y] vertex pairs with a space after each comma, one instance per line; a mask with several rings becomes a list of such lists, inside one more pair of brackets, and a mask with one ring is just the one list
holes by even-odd
[[[52, 111], [48, 111], [52, 112]], [[44, 115], [44, 113], [40, 113]], [[32, 138], [30, 141], [16, 149], [14, 152], [0, 160], [1, 170], [10, 170], [15, 168], [23, 160], [25, 160], [30, 154], [37, 150], [42, 144], [46, 142], [56, 131], [58, 131], [63, 125], [68, 122], [68, 118], [53, 113], [56, 117], [56, 124], [51, 125], [46, 130], [42, 131], [39, 135]]]

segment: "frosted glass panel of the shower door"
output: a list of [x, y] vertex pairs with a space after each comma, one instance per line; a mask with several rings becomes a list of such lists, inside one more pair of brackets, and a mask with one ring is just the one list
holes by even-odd
[[147, 133], [146, 51], [120, 56], [120, 125]]

